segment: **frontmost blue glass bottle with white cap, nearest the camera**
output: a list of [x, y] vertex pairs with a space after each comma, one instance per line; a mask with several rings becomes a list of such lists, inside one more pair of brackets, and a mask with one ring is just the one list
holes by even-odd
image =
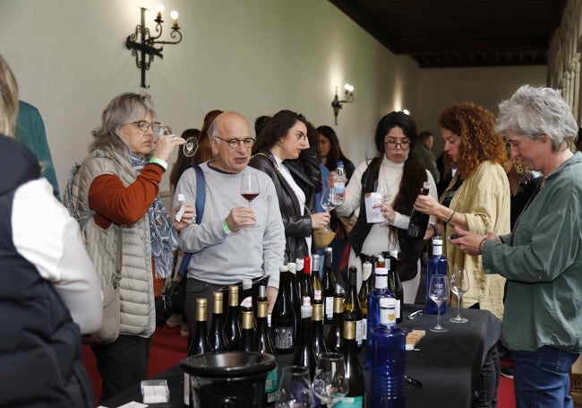
[[381, 325], [372, 329], [371, 408], [406, 408], [406, 334], [396, 326], [396, 299], [380, 299]]

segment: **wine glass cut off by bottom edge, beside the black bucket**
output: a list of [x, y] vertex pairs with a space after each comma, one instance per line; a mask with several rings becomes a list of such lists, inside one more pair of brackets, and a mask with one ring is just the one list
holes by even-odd
[[289, 366], [281, 369], [275, 407], [313, 408], [313, 405], [309, 369], [303, 366]]

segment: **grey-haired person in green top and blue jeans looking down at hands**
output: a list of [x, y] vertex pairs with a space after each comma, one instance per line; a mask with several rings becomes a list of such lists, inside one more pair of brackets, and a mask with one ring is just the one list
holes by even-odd
[[543, 174], [510, 234], [457, 228], [458, 245], [508, 280], [502, 342], [514, 353], [518, 407], [571, 407], [569, 369], [582, 352], [582, 153], [558, 91], [524, 85], [500, 104], [511, 158]]

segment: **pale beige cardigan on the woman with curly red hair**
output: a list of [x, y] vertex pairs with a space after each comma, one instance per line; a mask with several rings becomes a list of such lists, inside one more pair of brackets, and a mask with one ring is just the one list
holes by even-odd
[[[450, 181], [441, 201], [457, 179], [455, 176]], [[505, 170], [499, 164], [484, 161], [458, 187], [449, 208], [466, 215], [468, 230], [482, 235], [489, 231], [502, 235], [510, 232], [509, 205], [509, 181]], [[454, 232], [453, 226], [447, 225], [445, 237]], [[447, 242], [447, 239], [444, 239], [444, 245], [449, 260], [449, 273], [453, 269], [465, 268], [469, 274], [471, 288], [463, 296], [461, 307], [468, 308], [479, 302], [480, 308], [502, 318], [505, 278], [499, 274], [485, 274], [481, 256], [466, 255], [457, 246]], [[452, 306], [458, 305], [456, 296], [452, 296], [450, 301]]]

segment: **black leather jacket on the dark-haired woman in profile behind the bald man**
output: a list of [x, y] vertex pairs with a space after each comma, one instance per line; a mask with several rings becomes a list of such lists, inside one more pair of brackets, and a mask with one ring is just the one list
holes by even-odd
[[296, 161], [285, 161], [287, 169], [293, 176], [295, 183], [305, 193], [305, 206], [309, 211], [301, 215], [301, 208], [295, 192], [289, 186], [282, 174], [278, 172], [277, 161], [270, 151], [257, 153], [249, 163], [255, 169], [265, 172], [275, 185], [278, 196], [278, 206], [285, 226], [285, 262], [295, 262], [296, 258], [303, 258], [311, 254], [305, 237], [312, 235], [312, 219], [315, 194], [321, 191], [321, 170], [317, 161], [315, 147], [305, 149]]

